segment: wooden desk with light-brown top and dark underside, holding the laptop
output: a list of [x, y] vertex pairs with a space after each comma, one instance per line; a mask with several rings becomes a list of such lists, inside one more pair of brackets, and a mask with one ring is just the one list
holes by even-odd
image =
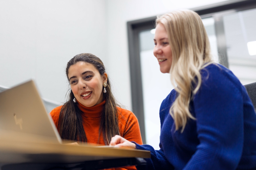
[[[150, 151], [104, 148], [90, 145], [71, 146], [47, 141], [26, 142], [22, 140], [12, 141], [0, 139], [0, 163], [2, 164], [1, 169], [3, 170], [17, 169], [15, 164], [18, 166], [26, 165], [24, 168], [18, 169], [29, 169], [29, 164], [39, 166], [38, 168], [35, 168], [36, 166], [32, 166], [33, 168], [30, 169], [49, 169], [51, 166], [54, 167], [56, 165], [59, 166], [63, 164], [66, 164], [66, 167], [70, 167], [71, 165], [67, 164], [86, 164], [85, 161], [110, 161], [113, 159], [135, 157], [150, 158]], [[47, 167], [44, 168], [43, 165]]]

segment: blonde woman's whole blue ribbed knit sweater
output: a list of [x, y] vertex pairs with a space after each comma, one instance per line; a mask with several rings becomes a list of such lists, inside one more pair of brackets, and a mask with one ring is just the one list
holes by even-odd
[[246, 89], [227, 68], [210, 64], [201, 71], [202, 84], [190, 102], [184, 132], [175, 131], [169, 109], [172, 90], [160, 107], [160, 150], [150, 145], [147, 167], [137, 169], [232, 170], [256, 168], [256, 114]]

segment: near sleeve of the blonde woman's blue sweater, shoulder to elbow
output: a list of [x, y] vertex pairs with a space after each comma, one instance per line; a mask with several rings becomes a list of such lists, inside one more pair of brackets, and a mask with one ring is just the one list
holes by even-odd
[[232, 170], [238, 166], [244, 135], [241, 86], [223, 69], [202, 71], [207, 78], [202, 79], [193, 101], [200, 144], [184, 170]]

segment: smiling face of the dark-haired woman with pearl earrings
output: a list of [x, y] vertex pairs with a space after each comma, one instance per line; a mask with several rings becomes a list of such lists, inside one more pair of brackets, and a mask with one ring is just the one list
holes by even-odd
[[68, 69], [68, 79], [71, 90], [77, 101], [86, 107], [92, 107], [103, 101], [103, 82], [107, 82], [108, 75], [100, 75], [99, 71], [90, 63], [77, 62]]

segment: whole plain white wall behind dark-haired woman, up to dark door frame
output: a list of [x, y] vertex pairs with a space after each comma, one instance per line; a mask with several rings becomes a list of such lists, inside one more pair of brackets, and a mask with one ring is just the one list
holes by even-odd
[[131, 109], [127, 21], [220, 1], [0, 0], [0, 85], [34, 78], [42, 97], [64, 102], [67, 62], [92, 53], [105, 64], [118, 101]]

